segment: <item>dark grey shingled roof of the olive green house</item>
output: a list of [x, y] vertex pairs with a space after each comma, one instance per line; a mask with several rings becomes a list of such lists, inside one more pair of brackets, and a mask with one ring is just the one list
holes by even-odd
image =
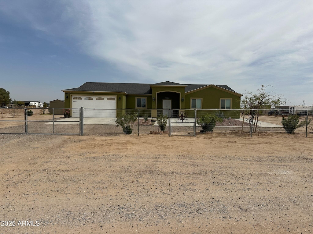
[[[102, 83], [102, 82], [86, 82], [78, 88], [65, 89], [62, 91], [99, 91], [99, 92], [123, 92], [127, 94], [152, 94], [150, 85], [184, 85], [170, 81], [165, 81], [156, 84], [133, 84], [133, 83]], [[187, 85], [185, 92], [202, 88], [207, 85]], [[226, 90], [236, 93], [227, 85], [216, 85]]]

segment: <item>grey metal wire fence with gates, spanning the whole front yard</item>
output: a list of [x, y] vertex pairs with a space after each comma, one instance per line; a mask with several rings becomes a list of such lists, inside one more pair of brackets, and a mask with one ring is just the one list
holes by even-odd
[[[312, 110], [60, 109], [0, 110], [0, 134], [199, 134], [284, 133], [313, 137]], [[69, 118], [70, 117], [70, 118]], [[130, 130], [131, 129], [131, 130]]]

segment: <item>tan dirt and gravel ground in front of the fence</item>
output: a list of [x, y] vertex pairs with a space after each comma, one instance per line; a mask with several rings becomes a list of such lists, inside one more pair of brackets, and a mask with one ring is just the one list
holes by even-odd
[[0, 233], [313, 231], [311, 138], [3, 134], [0, 142], [0, 217], [16, 223]]

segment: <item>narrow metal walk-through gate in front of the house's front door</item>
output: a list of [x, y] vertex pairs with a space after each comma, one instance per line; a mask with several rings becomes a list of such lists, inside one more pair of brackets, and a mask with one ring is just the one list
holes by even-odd
[[170, 136], [196, 136], [196, 113], [193, 109], [171, 109]]

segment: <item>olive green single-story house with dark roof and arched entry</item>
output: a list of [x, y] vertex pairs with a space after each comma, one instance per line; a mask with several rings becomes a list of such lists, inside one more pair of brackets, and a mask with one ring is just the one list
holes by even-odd
[[[156, 84], [86, 82], [62, 90], [65, 108], [86, 109], [240, 109], [239, 94], [227, 85], [184, 85], [170, 81]], [[88, 116], [90, 113], [90, 116]], [[105, 116], [116, 117], [115, 111]], [[85, 115], [86, 114], [86, 115]], [[73, 117], [79, 112], [74, 111]], [[91, 112], [84, 112], [92, 117]], [[156, 117], [156, 110], [151, 111]]]

